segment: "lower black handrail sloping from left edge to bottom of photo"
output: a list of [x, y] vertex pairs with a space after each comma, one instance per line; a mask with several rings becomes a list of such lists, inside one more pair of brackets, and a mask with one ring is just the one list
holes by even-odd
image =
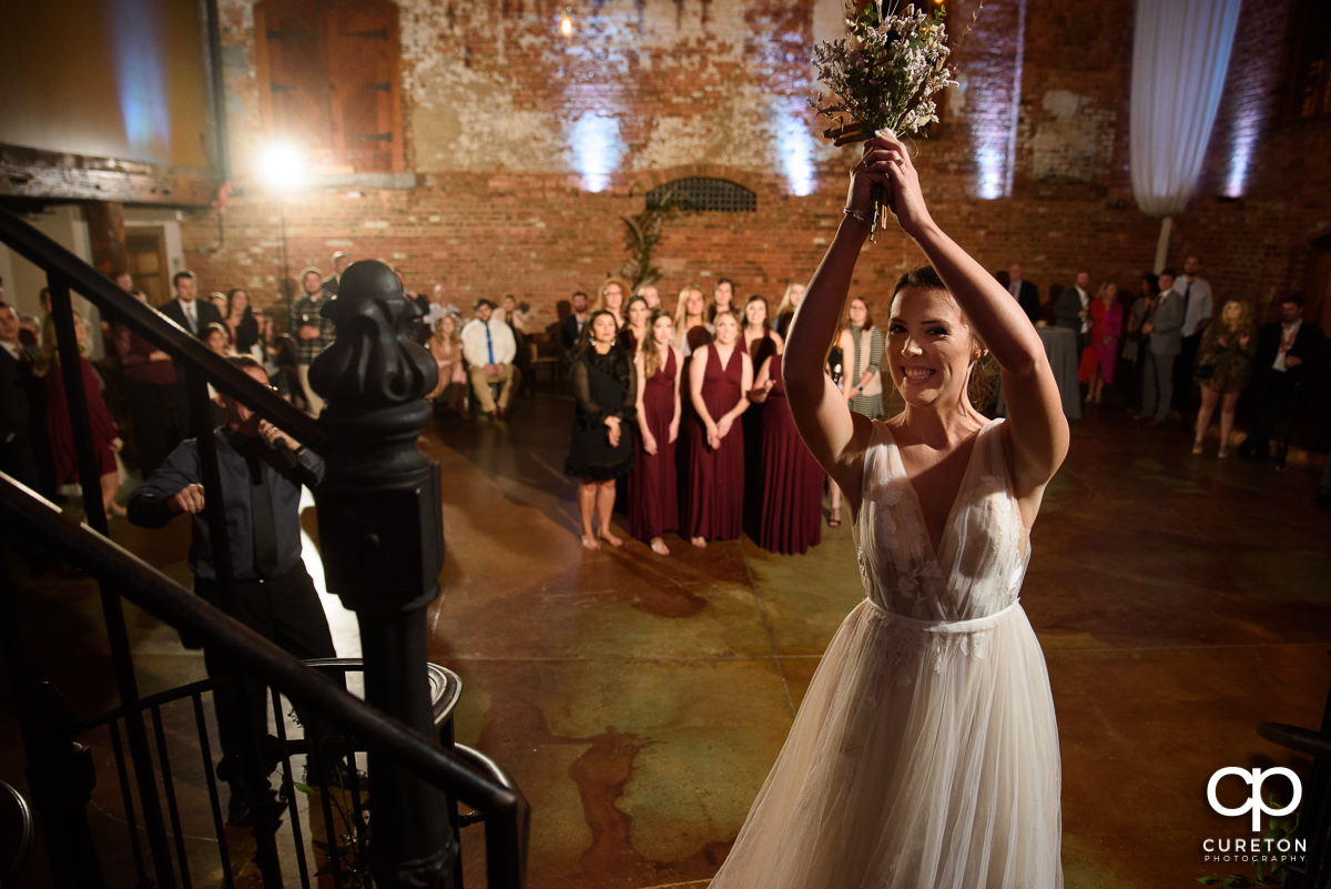
[[[56, 555], [98, 579], [125, 599], [177, 629], [216, 645], [287, 697], [303, 701], [371, 751], [393, 756], [434, 787], [484, 812], [498, 833], [487, 833], [491, 885], [526, 885], [530, 808], [511, 780], [496, 781], [439, 751], [429, 739], [347, 693], [322, 673], [301, 664], [277, 644], [186, 592], [138, 556], [100, 534], [76, 524], [25, 486], [0, 472], [0, 514], [21, 523]], [[491, 820], [491, 813], [503, 825]]]

